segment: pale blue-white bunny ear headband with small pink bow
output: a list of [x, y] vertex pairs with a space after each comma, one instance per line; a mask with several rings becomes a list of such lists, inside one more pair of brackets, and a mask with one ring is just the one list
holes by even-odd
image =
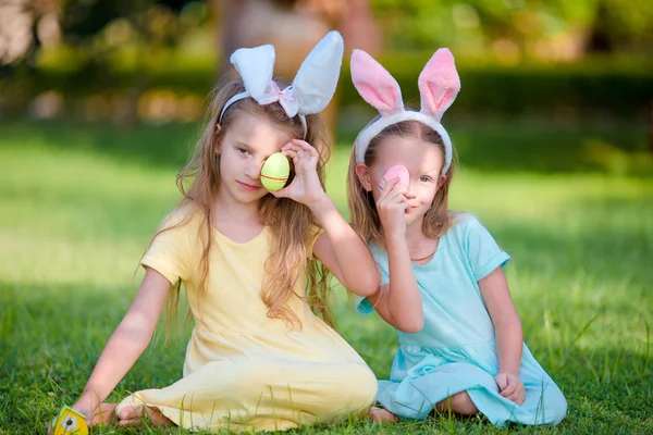
[[343, 50], [341, 34], [328, 33], [304, 60], [293, 84], [283, 90], [272, 80], [274, 47], [266, 45], [234, 51], [230, 61], [243, 77], [245, 91], [224, 104], [218, 122], [222, 122], [224, 112], [234, 102], [251, 97], [261, 105], [279, 101], [288, 117], [299, 115], [306, 135], [305, 115], [321, 112], [335, 92]]

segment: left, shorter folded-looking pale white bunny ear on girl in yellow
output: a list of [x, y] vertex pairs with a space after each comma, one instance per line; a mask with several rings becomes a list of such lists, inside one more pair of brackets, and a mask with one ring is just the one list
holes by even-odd
[[231, 63], [243, 77], [245, 89], [255, 100], [266, 94], [270, 86], [274, 59], [274, 47], [271, 45], [241, 48], [230, 58]]

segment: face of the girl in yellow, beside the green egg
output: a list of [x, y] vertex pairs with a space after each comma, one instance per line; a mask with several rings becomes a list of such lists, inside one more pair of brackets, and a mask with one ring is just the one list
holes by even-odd
[[261, 185], [261, 167], [293, 137], [264, 117], [239, 110], [218, 146], [220, 190], [224, 199], [256, 202], [268, 194]]

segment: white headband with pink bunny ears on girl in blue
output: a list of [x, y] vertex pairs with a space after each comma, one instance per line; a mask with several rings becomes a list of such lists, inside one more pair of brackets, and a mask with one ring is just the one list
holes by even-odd
[[442, 137], [445, 151], [442, 173], [448, 171], [452, 164], [452, 140], [440, 120], [460, 90], [454, 55], [448, 49], [438, 50], [419, 75], [419, 112], [404, 109], [402, 89], [397, 82], [362, 50], [354, 50], [352, 53], [352, 80], [362, 99], [381, 114], [380, 119], [365, 127], [356, 138], [356, 163], [365, 162], [370, 140], [385, 127], [402, 121], [418, 121], [433, 128]]

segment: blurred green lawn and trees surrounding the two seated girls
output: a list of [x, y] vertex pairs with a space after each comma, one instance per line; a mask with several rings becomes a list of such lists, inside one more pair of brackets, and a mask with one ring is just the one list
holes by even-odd
[[[513, 256], [525, 340], [569, 401], [557, 427], [508, 431], [653, 433], [652, 2], [16, 0], [0, 4], [0, 434], [45, 433], [82, 391], [180, 199], [174, 176], [231, 48], [273, 42], [292, 79], [284, 53], [303, 59], [329, 28], [345, 58], [366, 48], [414, 102], [432, 52], [456, 57], [452, 207]], [[328, 191], [345, 215], [350, 145], [373, 114], [346, 63], [326, 113]], [[387, 376], [392, 330], [355, 314], [340, 287], [334, 306], [340, 332]], [[168, 345], [163, 331], [110, 399], [181, 376], [188, 331]], [[438, 418], [296, 432], [500, 431]]]

